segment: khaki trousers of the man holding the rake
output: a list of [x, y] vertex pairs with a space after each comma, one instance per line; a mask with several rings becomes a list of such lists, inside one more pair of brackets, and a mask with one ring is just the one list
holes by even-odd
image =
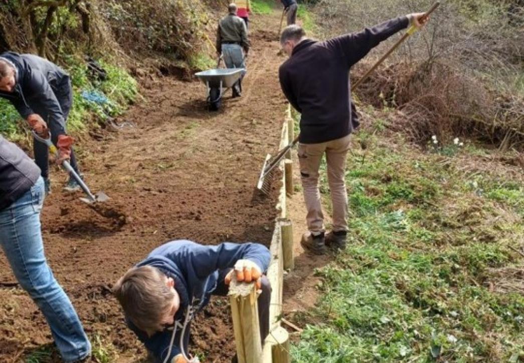
[[319, 168], [324, 153], [328, 163], [328, 184], [333, 204], [333, 231], [347, 231], [347, 192], [344, 176], [349, 149], [350, 135], [320, 144], [298, 145], [300, 177], [308, 210], [306, 221], [311, 232], [324, 231], [319, 191]]

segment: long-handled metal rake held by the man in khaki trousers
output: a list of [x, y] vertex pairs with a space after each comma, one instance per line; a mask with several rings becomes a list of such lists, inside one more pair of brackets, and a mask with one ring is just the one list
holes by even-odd
[[[440, 2], [436, 2], [433, 4], [433, 6], [424, 13], [424, 18], [427, 18], [433, 11], [438, 8], [440, 5]], [[412, 35], [414, 32], [417, 31], [417, 27], [412, 25], [406, 33], [384, 54], [372, 67], [369, 69], [369, 71], [366, 72], [362, 76], [360, 80], [358, 80], [352, 87], [351, 92], [353, 92], [356, 87], [358, 87], [362, 82], [364, 82], [371, 73], [382, 63], [388, 56], [400, 46], [400, 44], [405, 41], [410, 35]], [[271, 181], [275, 175], [276, 166], [280, 164], [282, 159], [286, 156], [286, 153], [293, 148], [294, 145], [297, 144], [298, 139], [300, 137], [297, 136], [293, 141], [291, 141], [290, 144], [288, 144], [285, 148], [280, 150], [275, 156], [271, 156], [270, 154], [267, 154], [266, 159], [264, 160], [264, 165], [262, 166], [262, 170], [260, 172], [260, 177], [258, 178], [257, 183], [257, 189], [263, 192], [264, 195], [268, 195], [269, 191], [271, 190]]]

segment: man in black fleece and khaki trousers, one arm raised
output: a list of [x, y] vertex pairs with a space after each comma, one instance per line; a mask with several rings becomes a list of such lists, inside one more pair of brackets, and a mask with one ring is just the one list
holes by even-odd
[[[280, 85], [291, 106], [301, 113], [298, 158], [308, 224], [301, 244], [315, 254], [325, 253], [326, 246], [346, 245], [346, 156], [350, 134], [358, 127], [349, 71], [377, 44], [410, 23], [422, 27], [427, 21], [423, 15], [401, 16], [323, 42], [307, 38], [297, 25], [282, 31], [280, 44], [289, 59], [280, 66]], [[326, 235], [318, 186], [324, 154], [333, 205], [332, 231]]]

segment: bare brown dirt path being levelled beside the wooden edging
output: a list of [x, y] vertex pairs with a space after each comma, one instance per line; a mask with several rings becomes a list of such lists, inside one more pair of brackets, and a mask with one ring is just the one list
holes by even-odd
[[[280, 18], [276, 12], [253, 20], [242, 98], [228, 92], [222, 110], [211, 113], [201, 83], [163, 78], [125, 115], [134, 127], [84, 143], [86, 180], [112, 198], [98, 211], [103, 216], [79, 195], [62, 194], [64, 176], [53, 172], [56, 187], [42, 215], [49, 263], [88, 334], [113, 345], [118, 361], [137, 361], [144, 349], [110, 288], [152, 248], [174, 239], [270, 241], [275, 198], [254, 199], [253, 191], [265, 154], [277, 148], [285, 110], [277, 74], [283, 58], [270, 41], [277, 31], [267, 31], [278, 29]], [[194, 324], [192, 351], [226, 361], [234, 350], [229, 326], [224, 301], [214, 300]], [[0, 255], [0, 361], [19, 361], [50, 342], [42, 315]]]

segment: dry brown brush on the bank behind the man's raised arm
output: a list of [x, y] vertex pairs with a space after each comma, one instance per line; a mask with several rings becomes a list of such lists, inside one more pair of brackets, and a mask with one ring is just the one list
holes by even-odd
[[[356, 31], [429, 8], [433, 0], [321, 0], [322, 37]], [[349, 15], [349, 16], [348, 16]], [[358, 78], [397, 38], [357, 65]], [[414, 141], [466, 136], [524, 148], [524, 8], [517, 1], [443, 2], [423, 32], [411, 37], [357, 90], [375, 106], [399, 107], [395, 127]], [[382, 95], [380, 98], [379, 95]]]

